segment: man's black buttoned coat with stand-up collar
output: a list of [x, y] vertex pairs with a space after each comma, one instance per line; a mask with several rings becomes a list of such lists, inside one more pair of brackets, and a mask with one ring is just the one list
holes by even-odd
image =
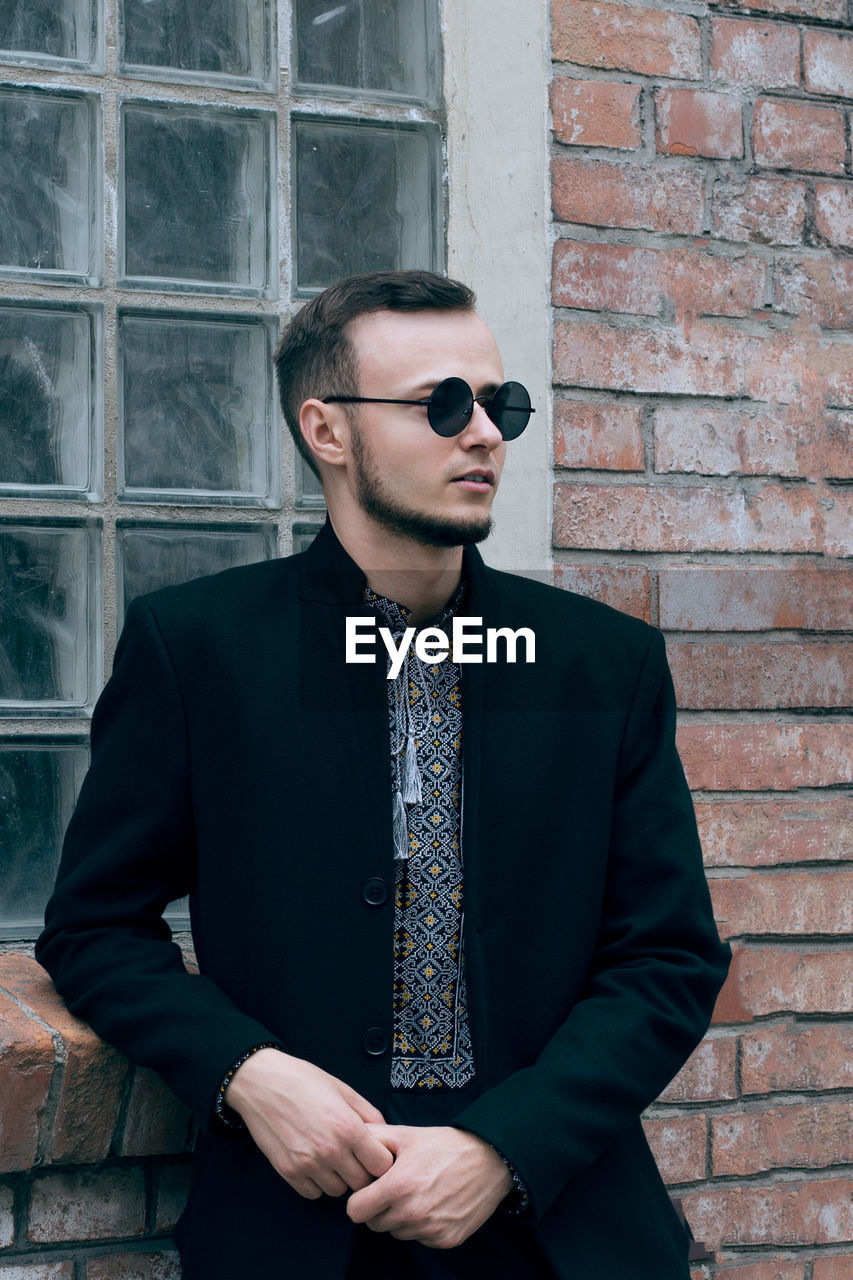
[[[457, 1116], [528, 1184], [566, 1280], [683, 1280], [640, 1111], [701, 1039], [729, 948], [675, 751], [660, 632], [465, 552], [466, 612], [535, 663], [464, 671], [465, 960], [483, 1092]], [[74, 1012], [192, 1107], [184, 1276], [336, 1280], [342, 1202], [306, 1201], [219, 1082], [274, 1039], [380, 1108], [393, 884], [383, 652], [343, 660], [362, 575], [327, 525], [302, 556], [134, 602], [37, 956]], [[160, 919], [191, 893], [201, 977]], [[380, 896], [380, 895], [379, 895]]]

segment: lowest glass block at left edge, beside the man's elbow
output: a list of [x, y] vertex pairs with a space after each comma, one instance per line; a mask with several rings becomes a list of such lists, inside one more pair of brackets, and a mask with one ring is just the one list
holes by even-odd
[[0, 937], [35, 937], [88, 767], [85, 742], [0, 741]]

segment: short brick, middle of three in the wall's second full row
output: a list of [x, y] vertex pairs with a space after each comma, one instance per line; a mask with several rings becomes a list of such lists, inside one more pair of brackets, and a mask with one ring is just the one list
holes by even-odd
[[654, 90], [654, 145], [676, 156], [743, 156], [740, 100], [698, 88]]

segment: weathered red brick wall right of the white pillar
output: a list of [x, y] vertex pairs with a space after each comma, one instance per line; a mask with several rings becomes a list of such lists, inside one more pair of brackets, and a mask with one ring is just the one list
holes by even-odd
[[735, 960], [647, 1126], [716, 1280], [853, 1277], [852, 18], [552, 0], [557, 581], [666, 634]]

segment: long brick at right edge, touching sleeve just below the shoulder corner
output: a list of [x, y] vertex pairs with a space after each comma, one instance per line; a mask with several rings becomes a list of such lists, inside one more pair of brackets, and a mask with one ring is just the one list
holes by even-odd
[[853, 707], [853, 648], [843, 641], [670, 639], [667, 652], [679, 707]]

